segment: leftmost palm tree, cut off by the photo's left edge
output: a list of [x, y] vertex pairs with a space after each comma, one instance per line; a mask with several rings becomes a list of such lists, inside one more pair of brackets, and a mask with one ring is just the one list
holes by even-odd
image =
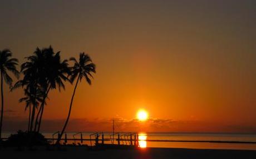
[[0, 140], [2, 138], [2, 124], [3, 124], [3, 79], [4, 81], [11, 86], [12, 78], [9, 76], [7, 71], [11, 71], [14, 76], [18, 78], [19, 72], [16, 69], [16, 65], [18, 65], [17, 58], [11, 58], [12, 52], [9, 49], [4, 49], [0, 51], [0, 71], [1, 71], [1, 97], [2, 97], [2, 108], [1, 108], [1, 118], [0, 118]]

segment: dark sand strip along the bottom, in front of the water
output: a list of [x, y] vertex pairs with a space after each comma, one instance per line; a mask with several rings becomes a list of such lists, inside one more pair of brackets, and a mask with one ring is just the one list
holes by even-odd
[[144, 148], [138, 150], [86, 150], [85, 147], [65, 147], [62, 150], [17, 150], [1, 148], [0, 158], [256, 158], [256, 151], [197, 150], [185, 148]]

